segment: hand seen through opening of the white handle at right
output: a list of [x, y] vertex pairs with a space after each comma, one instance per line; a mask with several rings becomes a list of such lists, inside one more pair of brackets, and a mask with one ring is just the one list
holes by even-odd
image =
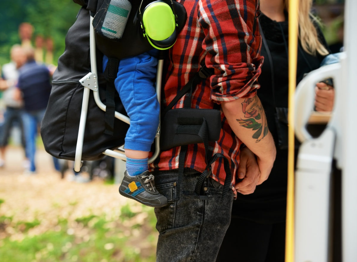
[[335, 89], [323, 82], [317, 83], [315, 87], [315, 108], [320, 112], [331, 112], [335, 99]]

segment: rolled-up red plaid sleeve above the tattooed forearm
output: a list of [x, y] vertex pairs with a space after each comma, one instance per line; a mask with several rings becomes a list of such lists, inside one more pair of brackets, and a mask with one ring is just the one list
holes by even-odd
[[257, 82], [263, 57], [255, 1], [202, 0], [199, 22], [205, 31], [205, 63], [214, 68], [211, 100], [215, 103], [249, 98]]

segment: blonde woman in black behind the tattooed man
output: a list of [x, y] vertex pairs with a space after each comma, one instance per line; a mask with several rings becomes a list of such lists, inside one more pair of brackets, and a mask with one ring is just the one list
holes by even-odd
[[[264, 56], [264, 64], [258, 79], [261, 88], [257, 94], [277, 147], [275, 164], [269, 178], [258, 185], [254, 193], [238, 194], [237, 200], [233, 201], [231, 224], [217, 261], [284, 261], [288, 155], [287, 4], [287, 0], [260, 1], [261, 55]], [[317, 20], [310, 13], [311, 5], [312, 0], [300, 0], [297, 83], [304, 74], [320, 67], [322, 59], [329, 53]], [[333, 93], [333, 89], [324, 83], [318, 83], [317, 86], [316, 109], [331, 110], [333, 95], [327, 97]], [[242, 154], [246, 154], [246, 151], [242, 151], [241, 158]], [[244, 172], [239, 174], [238, 171], [238, 176], [244, 177]]]

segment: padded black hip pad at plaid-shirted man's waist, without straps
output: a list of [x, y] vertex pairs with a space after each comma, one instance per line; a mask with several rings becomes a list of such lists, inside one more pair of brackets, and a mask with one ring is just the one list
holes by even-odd
[[216, 109], [171, 109], [161, 120], [160, 149], [165, 151], [176, 146], [202, 143], [197, 134], [205, 129], [208, 130], [208, 141], [217, 141], [221, 125], [221, 112]]

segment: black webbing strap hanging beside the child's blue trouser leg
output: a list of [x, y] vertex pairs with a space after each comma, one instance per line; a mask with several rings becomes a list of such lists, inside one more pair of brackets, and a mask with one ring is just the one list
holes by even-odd
[[115, 119], [115, 85], [114, 80], [117, 77], [119, 67], [119, 59], [109, 58], [107, 66], [104, 70], [104, 77], [107, 80], [107, 88], [105, 94], [105, 131], [108, 135], [114, 134], [114, 119]]

